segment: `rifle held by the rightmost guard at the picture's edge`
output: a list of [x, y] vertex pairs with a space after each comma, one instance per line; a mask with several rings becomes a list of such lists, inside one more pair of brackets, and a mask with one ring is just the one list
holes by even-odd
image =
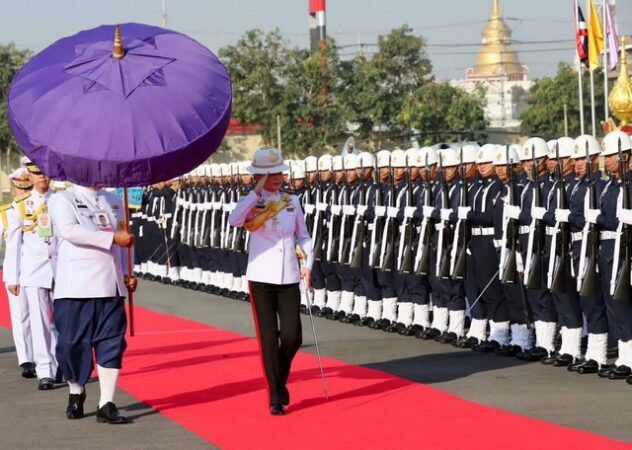
[[[621, 138], [619, 138], [619, 176], [621, 177], [621, 208], [630, 209], [630, 190], [628, 180], [626, 179], [626, 164], [621, 151]], [[615, 266], [612, 269], [612, 278], [610, 280], [610, 293], [612, 298], [621, 301], [630, 301], [630, 239], [632, 239], [632, 227], [630, 225], [619, 222], [619, 233], [615, 243]], [[621, 268], [617, 271], [619, 256], [623, 255]]]

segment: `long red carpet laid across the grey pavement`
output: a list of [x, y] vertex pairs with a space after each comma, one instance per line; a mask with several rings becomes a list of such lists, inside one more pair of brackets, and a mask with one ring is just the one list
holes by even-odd
[[[9, 327], [2, 297], [0, 325]], [[316, 358], [305, 353], [290, 377], [290, 414], [272, 417], [256, 341], [142, 308], [135, 318], [120, 387], [222, 449], [632, 448], [333, 359], [324, 360], [325, 401]]]

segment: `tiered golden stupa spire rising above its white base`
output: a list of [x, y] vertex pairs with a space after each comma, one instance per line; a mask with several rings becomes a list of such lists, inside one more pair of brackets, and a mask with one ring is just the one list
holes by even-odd
[[476, 66], [468, 71], [468, 78], [523, 79], [526, 68], [511, 47], [511, 30], [500, 15], [499, 0], [493, 0], [492, 15], [483, 29], [483, 48], [476, 56]]

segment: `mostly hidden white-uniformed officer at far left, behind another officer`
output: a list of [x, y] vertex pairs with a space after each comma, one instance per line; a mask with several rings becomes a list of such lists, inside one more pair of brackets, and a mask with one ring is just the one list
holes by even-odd
[[[21, 167], [15, 170], [10, 176], [12, 190], [11, 195], [14, 200], [28, 196], [33, 188], [33, 182], [30, 180], [28, 171]], [[8, 213], [11, 210], [12, 203], [0, 206], [0, 236], [5, 241], [8, 234], [9, 218]], [[1, 241], [0, 241], [1, 242]], [[4, 264], [6, 268], [12, 261], [9, 261], [5, 253]], [[15, 264], [15, 261], [13, 261]], [[29, 315], [29, 305], [26, 300], [24, 290], [19, 295], [13, 295], [7, 289], [9, 298], [9, 311], [11, 313], [11, 330], [13, 332], [13, 342], [15, 343], [15, 352], [18, 356], [18, 364], [20, 365], [22, 376], [24, 378], [35, 378], [35, 363], [33, 362], [33, 338], [31, 337], [31, 318]]]

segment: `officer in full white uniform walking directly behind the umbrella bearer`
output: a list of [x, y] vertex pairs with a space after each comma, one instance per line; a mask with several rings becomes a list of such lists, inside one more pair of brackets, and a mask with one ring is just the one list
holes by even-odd
[[[7, 214], [8, 238], [4, 282], [13, 295], [24, 293], [28, 301], [33, 357], [38, 387], [49, 390], [57, 377], [51, 289], [55, 275], [57, 240], [53, 236], [47, 202], [52, 191], [50, 178], [28, 159], [23, 164], [33, 182], [29, 196], [13, 202]], [[58, 380], [61, 381], [61, 380]]]

